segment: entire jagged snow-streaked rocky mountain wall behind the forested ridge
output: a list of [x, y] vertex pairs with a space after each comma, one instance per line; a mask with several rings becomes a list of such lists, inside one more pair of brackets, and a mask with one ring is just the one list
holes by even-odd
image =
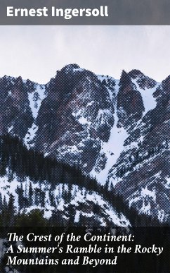
[[138, 70], [120, 80], [77, 64], [46, 85], [0, 79], [0, 133], [78, 164], [108, 183], [139, 213], [169, 221], [169, 89]]

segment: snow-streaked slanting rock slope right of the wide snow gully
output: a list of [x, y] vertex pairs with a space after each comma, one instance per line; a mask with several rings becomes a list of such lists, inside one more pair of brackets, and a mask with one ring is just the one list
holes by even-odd
[[[169, 221], [169, 77], [153, 96], [156, 106], [129, 132], [108, 180], [139, 212]], [[137, 88], [138, 83], [136, 81]], [[147, 90], [148, 91], [148, 90]]]

